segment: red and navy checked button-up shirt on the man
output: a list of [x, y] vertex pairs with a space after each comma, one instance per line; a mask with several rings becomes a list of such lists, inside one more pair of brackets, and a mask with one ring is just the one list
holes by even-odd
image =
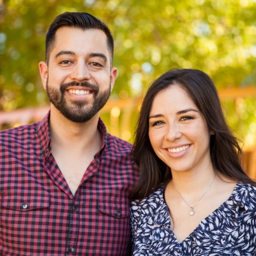
[[131, 145], [99, 120], [101, 149], [72, 195], [48, 120], [0, 132], [0, 255], [129, 255]]

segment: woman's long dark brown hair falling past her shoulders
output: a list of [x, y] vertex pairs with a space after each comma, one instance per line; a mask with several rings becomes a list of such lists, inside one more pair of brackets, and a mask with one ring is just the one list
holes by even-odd
[[149, 112], [154, 97], [172, 85], [179, 85], [203, 113], [210, 137], [210, 154], [214, 170], [233, 181], [255, 185], [241, 165], [242, 149], [225, 120], [216, 87], [211, 78], [198, 69], [172, 69], [157, 78], [149, 87], [136, 124], [132, 150], [133, 160], [139, 166], [140, 178], [130, 192], [130, 198], [143, 199], [160, 185], [171, 180], [170, 168], [155, 154], [149, 141]]

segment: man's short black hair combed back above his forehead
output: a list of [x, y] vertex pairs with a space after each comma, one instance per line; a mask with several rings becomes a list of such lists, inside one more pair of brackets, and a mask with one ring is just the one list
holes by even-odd
[[64, 12], [58, 15], [50, 25], [46, 34], [46, 63], [49, 63], [50, 52], [54, 45], [56, 31], [61, 27], [79, 28], [82, 30], [99, 29], [107, 36], [108, 49], [113, 60], [114, 40], [110, 29], [99, 18], [86, 12]]

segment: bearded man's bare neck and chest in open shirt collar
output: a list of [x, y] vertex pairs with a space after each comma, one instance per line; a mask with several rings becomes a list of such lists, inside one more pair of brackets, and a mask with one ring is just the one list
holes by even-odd
[[99, 114], [86, 123], [71, 122], [56, 111], [50, 114], [51, 153], [72, 194], [101, 148], [98, 121]]

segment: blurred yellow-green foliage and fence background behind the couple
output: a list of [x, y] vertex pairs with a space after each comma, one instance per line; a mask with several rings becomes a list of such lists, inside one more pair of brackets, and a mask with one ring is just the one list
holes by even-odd
[[48, 26], [65, 11], [89, 12], [113, 33], [119, 73], [101, 111], [110, 133], [132, 143], [150, 83], [171, 68], [199, 68], [216, 84], [256, 178], [256, 0], [0, 0], [0, 129], [47, 113], [38, 63]]

